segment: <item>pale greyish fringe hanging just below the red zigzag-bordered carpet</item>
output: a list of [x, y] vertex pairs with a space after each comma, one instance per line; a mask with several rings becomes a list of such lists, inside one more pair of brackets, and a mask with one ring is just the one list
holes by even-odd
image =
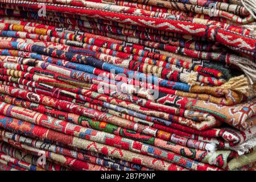
[[236, 65], [243, 71], [243, 73], [245, 73], [249, 79], [250, 85], [254, 85], [256, 83], [256, 63], [252, 60], [247, 59], [246, 57], [230, 55], [229, 63]]

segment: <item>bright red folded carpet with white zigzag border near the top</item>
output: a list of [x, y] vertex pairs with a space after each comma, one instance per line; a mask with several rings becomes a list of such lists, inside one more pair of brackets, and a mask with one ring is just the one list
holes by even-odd
[[[1, 1], [3, 3], [16, 3], [16, 6], [19, 7], [31, 7], [32, 9], [39, 9], [39, 3], [37, 2], [29, 2], [29, 1], [6, 1], [3, 0]], [[60, 8], [61, 7], [61, 8]], [[191, 23], [189, 22], [179, 22], [177, 23], [177, 20], [170, 20], [170, 19], [166, 19], [165, 23], [163, 23], [163, 19], [153, 19], [150, 17], [146, 17], [146, 16], [141, 16], [143, 17], [142, 19], [138, 19], [136, 15], [129, 15], [129, 19], [127, 21], [127, 15], [123, 14], [123, 13], [115, 13], [113, 11], [106, 11], [106, 10], [98, 10], [98, 9], [86, 9], [86, 8], [79, 8], [77, 9], [76, 6], [59, 6], [56, 4], [46, 4], [46, 9], [48, 10], [52, 10], [52, 11], [60, 11], [60, 12], [64, 12], [64, 11], [69, 11], [72, 13], [77, 13], [77, 14], [84, 14], [87, 16], [95, 16], [97, 15], [98, 18], [102, 18], [102, 19], [110, 19], [112, 20], [112, 18], [114, 19], [115, 16], [118, 15], [118, 18], [115, 19], [117, 22], [125, 22], [128, 24], [138, 24], [139, 26], [143, 26], [143, 27], [151, 27], [151, 28], [156, 28], [159, 30], [165, 30], [165, 31], [174, 31], [177, 33], [183, 33], [183, 34], [191, 34], [191, 35], [195, 35], [195, 36], [208, 36], [208, 38], [210, 40], [213, 41], [219, 41], [221, 43], [225, 43], [227, 46], [230, 47], [239, 47], [238, 43], [234, 43], [232, 40], [230, 39], [225, 39], [225, 37], [229, 37], [231, 36], [233, 38], [234, 36], [234, 32], [229, 32], [226, 31], [223, 28], [218, 28], [217, 32], [214, 31], [216, 30], [216, 26], [212, 26], [209, 27], [209, 29], [207, 28], [206, 25], [204, 24], [199, 24], [199, 23], [195, 23], [194, 26], [192, 26]], [[107, 16], [110, 16], [110, 18], [106, 18]], [[155, 21], [154, 21], [155, 20]], [[154, 23], [154, 24], [152, 24]], [[162, 24], [163, 23], [163, 24]], [[176, 25], [176, 27], [174, 26], [174, 24]], [[186, 28], [189, 27], [189, 28]], [[197, 29], [197, 30], [195, 30]], [[207, 30], [205, 32], [205, 30]], [[213, 31], [212, 31], [213, 30]], [[214, 32], [213, 36], [212, 32]], [[241, 41], [243, 43], [245, 43], [247, 46], [245, 46], [244, 48], [238, 49], [238, 51], [240, 52], [246, 52], [250, 55], [253, 55], [253, 52], [255, 51], [255, 40], [247, 37], [247, 36], [242, 36], [242, 34], [238, 34], [237, 35]], [[213, 38], [214, 37], [214, 38]]]

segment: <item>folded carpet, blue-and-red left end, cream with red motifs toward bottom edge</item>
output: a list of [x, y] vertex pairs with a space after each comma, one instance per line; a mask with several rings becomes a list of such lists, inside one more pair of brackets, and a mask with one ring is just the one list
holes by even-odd
[[[101, 152], [102, 154], [105, 154], [105, 155], [114, 156], [115, 158], [119, 158], [119, 159], [120, 158], [125, 159], [130, 162], [142, 164], [143, 166], [152, 167], [158, 170], [159, 169], [184, 170], [183, 167], [176, 166], [175, 164], [171, 164], [160, 159], [154, 159], [154, 158], [151, 158], [150, 156], [140, 155], [134, 152], [117, 149], [116, 147], [106, 146], [104, 144], [100, 144], [97, 142], [91, 142], [90, 140], [72, 137], [71, 135], [65, 135], [53, 130], [46, 129], [45, 127], [33, 125], [32, 123], [29, 123], [29, 122], [19, 121], [15, 118], [7, 118], [3, 115], [1, 115], [1, 117], [2, 117], [3, 124], [6, 123], [5, 122], [6, 119], [10, 121], [8, 122], [10, 125], [6, 126], [6, 128], [9, 128], [14, 131], [19, 131], [24, 134], [26, 133], [26, 135], [30, 135], [31, 137], [37, 136], [40, 138], [47, 138], [49, 140], [61, 142], [63, 144], [67, 144], [67, 145], [71, 145], [79, 148], [88, 148], [88, 150], [90, 151]], [[13, 122], [16, 122], [16, 124]], [[22, 127], [20, 127], [22, 125], [17, 125], [18, 123], [20, 124], [23, 123], [24, 125], [30, 126], [32, 129], [35, 130], [36, 133], [20, 130], [22, 129]], [[2, 122], [1, 122], [1, 127], [5, 128], [5, 125], [2, 125]], [[38, 133], [38, 131], [40, 131], [40, 133]], [[90, 146], [97, 146], [97, 147], [90, 147]], [[117, 151], [117, 152], [114, 152], [114, 151]], [[201, 169], [207, 169], [207, 168], [201, 168]]]

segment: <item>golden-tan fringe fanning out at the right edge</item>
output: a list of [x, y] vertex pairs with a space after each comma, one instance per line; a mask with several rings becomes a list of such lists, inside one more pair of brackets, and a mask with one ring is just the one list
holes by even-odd
[[219, 88], [226, 88], [242, 93], [247, 97], [256, 96], [256, 85], [251, 85], [249, 79], [245, 75], [230, 78], [228, 82], [219, 86]]

